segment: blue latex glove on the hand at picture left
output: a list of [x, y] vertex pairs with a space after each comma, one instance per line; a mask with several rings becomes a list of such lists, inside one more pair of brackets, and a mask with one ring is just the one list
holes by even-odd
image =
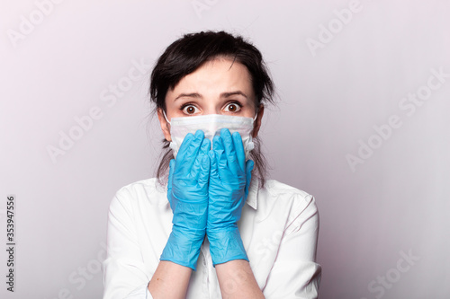
[[208, 180], [211, 141], [198, 130], [184, 137], [183, 144], [170, 161], [167, 199], [174, 212], [172, 233], [161, 260], [196, 269], [200, 247], [206, 233]]

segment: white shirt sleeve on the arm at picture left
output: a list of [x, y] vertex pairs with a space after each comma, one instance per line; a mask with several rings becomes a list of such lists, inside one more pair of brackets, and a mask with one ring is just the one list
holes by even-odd
[[[128, 196], [127, 196], [128, 195]], [[127, 190], [112, 199], [108, 215], [107, 255], [103, 261], [103, 299], [152, 299]]]

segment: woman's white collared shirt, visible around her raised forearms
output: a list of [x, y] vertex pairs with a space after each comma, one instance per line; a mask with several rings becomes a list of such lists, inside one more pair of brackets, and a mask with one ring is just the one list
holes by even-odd
[[[172, 231], [172, 217], [166, 189], [156, 179], [117, 192], [109, 211], [103, 299], [152, 298], [148, 282]], [[311, 195], [276, 180], [259, 189], [252, 180], [238, 227], [266, 298], [317, 298], [319, 214]], [[186, 298], [221, 298], [207, 238]]]

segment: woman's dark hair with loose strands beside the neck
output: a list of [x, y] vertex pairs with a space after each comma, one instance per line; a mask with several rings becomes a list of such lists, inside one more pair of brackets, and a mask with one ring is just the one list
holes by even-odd
[[[268, 74], [261, 52], [240, 36], [233, 36], [224, 31], [206, 31], [185, 34], [183, 38], [175, 40], [157, 59], [150, 76], [149, 95], [155, 102], [157, 109], [166, 111], [166, 93], [185, 76], [193, 73], [205, 62], [216, 57], [229, 57], [247, 67], [251, 76], [253, 91], [255, 92], [256, 110], [266, 101], [274, 102], [274, 84]], [[261, 153], [259, 138], [254, 138], [255, 148], [250, 152], [250, 159], [255, 162], [254, 175], [262, 181], [266, 180], [266, 158]], [[166, 178], [168, 164], [174, 158], [168, 148], [169, 142], [163, 140], [161, 162], [157, 168], [157, 180], [162, 182]]]

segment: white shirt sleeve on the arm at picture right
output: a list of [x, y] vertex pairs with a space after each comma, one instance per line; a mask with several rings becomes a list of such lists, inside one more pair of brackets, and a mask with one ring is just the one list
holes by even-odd
[[263, 291], [268, 299], [318, 297], [321, 267], [315, 260], [319, 213], [311, 195], [296, 199], [300, 202], [300, 212], [297, 209], [293, 221], [284, 231], [274, 266]]

